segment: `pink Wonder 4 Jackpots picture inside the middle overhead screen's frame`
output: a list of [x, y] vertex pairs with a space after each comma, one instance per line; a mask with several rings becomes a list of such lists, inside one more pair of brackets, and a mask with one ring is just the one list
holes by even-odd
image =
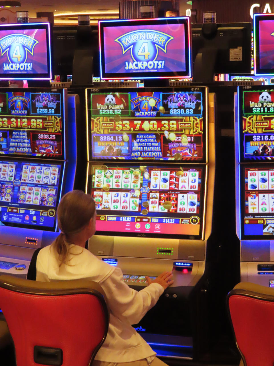
[[178, 24], [136, 26], [130, 32], [106, 28], [104, 41], [106, 72], [185, 71], [184, 27]]

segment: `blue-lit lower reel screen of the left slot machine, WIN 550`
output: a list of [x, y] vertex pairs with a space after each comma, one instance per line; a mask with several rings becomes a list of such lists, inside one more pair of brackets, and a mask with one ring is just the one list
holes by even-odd
[[63, 174], [62, 161], [0, 156], [0, 225], [56, 231]]

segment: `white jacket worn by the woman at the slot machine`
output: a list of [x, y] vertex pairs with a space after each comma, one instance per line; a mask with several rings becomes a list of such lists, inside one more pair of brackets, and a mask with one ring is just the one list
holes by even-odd
[[123, 281], [120, 268], [100, 261], [87, 249], [70, 246], [68, 264], [59, 266], [58, 255], [52, 245], [41, 249], [36, 262], [36, 280], [89, 279], [99, 283], [108, 299], [110, 324], [106, 340], [95, 359], [105, 362], [132, 362], [155, 356], [156, 353], [136, 332], [137, 324], [163, 294], [164, 288], [152, 283], [141, 291], [130, 288]]

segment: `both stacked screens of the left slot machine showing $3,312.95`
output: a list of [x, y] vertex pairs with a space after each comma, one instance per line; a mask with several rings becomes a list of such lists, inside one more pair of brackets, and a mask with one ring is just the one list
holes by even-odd
[[65, 98], [64, 89], [0, 89], [2, 225], [56, 231], [66, 158]]

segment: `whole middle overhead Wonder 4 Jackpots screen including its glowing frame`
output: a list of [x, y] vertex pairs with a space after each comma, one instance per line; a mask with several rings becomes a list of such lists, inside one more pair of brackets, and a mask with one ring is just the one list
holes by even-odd
[[188, 17], [102, 20], [98, 26], [101, 79], [191, 77]]

